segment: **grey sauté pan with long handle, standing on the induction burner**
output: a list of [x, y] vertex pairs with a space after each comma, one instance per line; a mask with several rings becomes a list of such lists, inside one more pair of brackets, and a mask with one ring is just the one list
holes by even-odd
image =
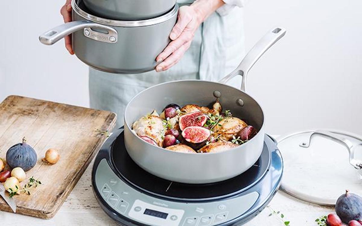
[[[260, 157], [264, 145], [264, 112], [245, 93], [247, 74], [259, 57], [285, 34], [285, 29], [269, 31], [245, 56], [240, 65], [221, 81], [183, 80], [152, 86], [137, 94], [125, 109], [125, 145], [130, 157], [144, 170], [174, 182], [212, 183], [237, 176], [248, 170]], [[243, 76], [241, 90], [225, 85], [231, 78]], [[148, 144], [131, 131], [140, 116], [153, 109], [162, 111], [169, 103], [206, 106], [214, 101], [215, 91], [221, 93], [223, 109], [247, 119], [258, 133], [248, 142], [220, 153], [177, 153]]]

